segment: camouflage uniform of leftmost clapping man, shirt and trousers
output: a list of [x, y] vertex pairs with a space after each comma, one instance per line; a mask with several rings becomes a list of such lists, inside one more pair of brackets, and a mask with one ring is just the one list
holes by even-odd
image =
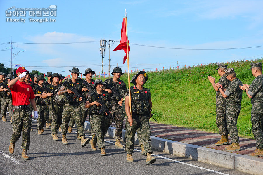
[[[218, 83], [223, 86], [223, 88], [227, 89], [229, 80], [226, 78], [227, 74], [222, 75], [219, 79]], [[216, 109], [217, 109], [217, 117], [216, 124], [219, 130], [219, 134], [221, 136], [228, 135], [229, 131], [226, 127], [226, 99], [222, 96], [220, 91], [216, 92]]]

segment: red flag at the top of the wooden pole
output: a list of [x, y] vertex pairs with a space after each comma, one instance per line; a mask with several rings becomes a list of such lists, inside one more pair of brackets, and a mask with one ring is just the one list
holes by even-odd
[[[123, 64], [125, 63], [126, 59], [127, 59], [127, 35], [126, 35], [126, 25], [125, 25], [125, 17], [122, 20], [122, 32], [121, 32], [121, 40], [120, 40], [120, 44], [113, 50], [113, 51], [118, 51], [118, 50], [124, 50], [124, 52], [126, 53], [126, 56], [123, 57]], [[130, 53], [130, 45], [129, 45], [129, 39], [128, 39], [128, 49], [129, 49], [129, 53]]]

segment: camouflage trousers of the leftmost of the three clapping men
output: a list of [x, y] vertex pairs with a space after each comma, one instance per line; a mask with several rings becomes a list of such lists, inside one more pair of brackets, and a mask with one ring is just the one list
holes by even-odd
[[229, 134], [226, 127], [226, 106], [217, 106], [216, 124], [221, 136]]

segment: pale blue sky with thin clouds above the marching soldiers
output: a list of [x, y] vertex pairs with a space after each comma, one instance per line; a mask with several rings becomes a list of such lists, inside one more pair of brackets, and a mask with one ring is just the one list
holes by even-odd
[[[49, 8], [56, 5], [56, 22], [30, 22], [25, 17], [6, 17], [6, 10], [15, 8]], [[261, 58], [262, 48], [237, 50], [180, 50], [154, 48], [134, 44], [168, 48], [218, 49], [263, 46], [263, 1], [4, 1], [0, 0], [0, 63], [10, 67], [12, 54], [20, 52], [14, 64], [29, 71], [62, 72], [78, 67], [84, 73], [92, 68], [101, 72], [99, 40], [120, 41], [122, 18], [127, 10], [130, 42], [130, 70], [159, 70], [180, 67]], [[13, 9], [14, 10], [14, 9]], [[13, 11], [11, 10], [11, 11]], [[8, 10], [10, 11], [10, 10]], [[7, 18], [26, 19], [25, 22], [6, 22]], [[48, 19], [50, 17], [47, 17]], [[81, 44], [16, 44], [72, 43]], [[124, 51], [112, 51], [118, 42], [111, 43], [111, 72], [114, 67], [127, 70], [123, 63]], [[104, 71], [108, 74], [108, 43]]]

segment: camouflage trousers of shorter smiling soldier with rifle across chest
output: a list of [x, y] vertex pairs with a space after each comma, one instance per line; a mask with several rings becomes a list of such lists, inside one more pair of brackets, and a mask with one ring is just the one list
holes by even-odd
[[98, 143], [98, 148], [105, 148], [104, 136], [107, 133], [107, 120], [105, 119], [107, 115], [92, 114], [94, 130], [96, 135], [94, 137], [94, 142]]

